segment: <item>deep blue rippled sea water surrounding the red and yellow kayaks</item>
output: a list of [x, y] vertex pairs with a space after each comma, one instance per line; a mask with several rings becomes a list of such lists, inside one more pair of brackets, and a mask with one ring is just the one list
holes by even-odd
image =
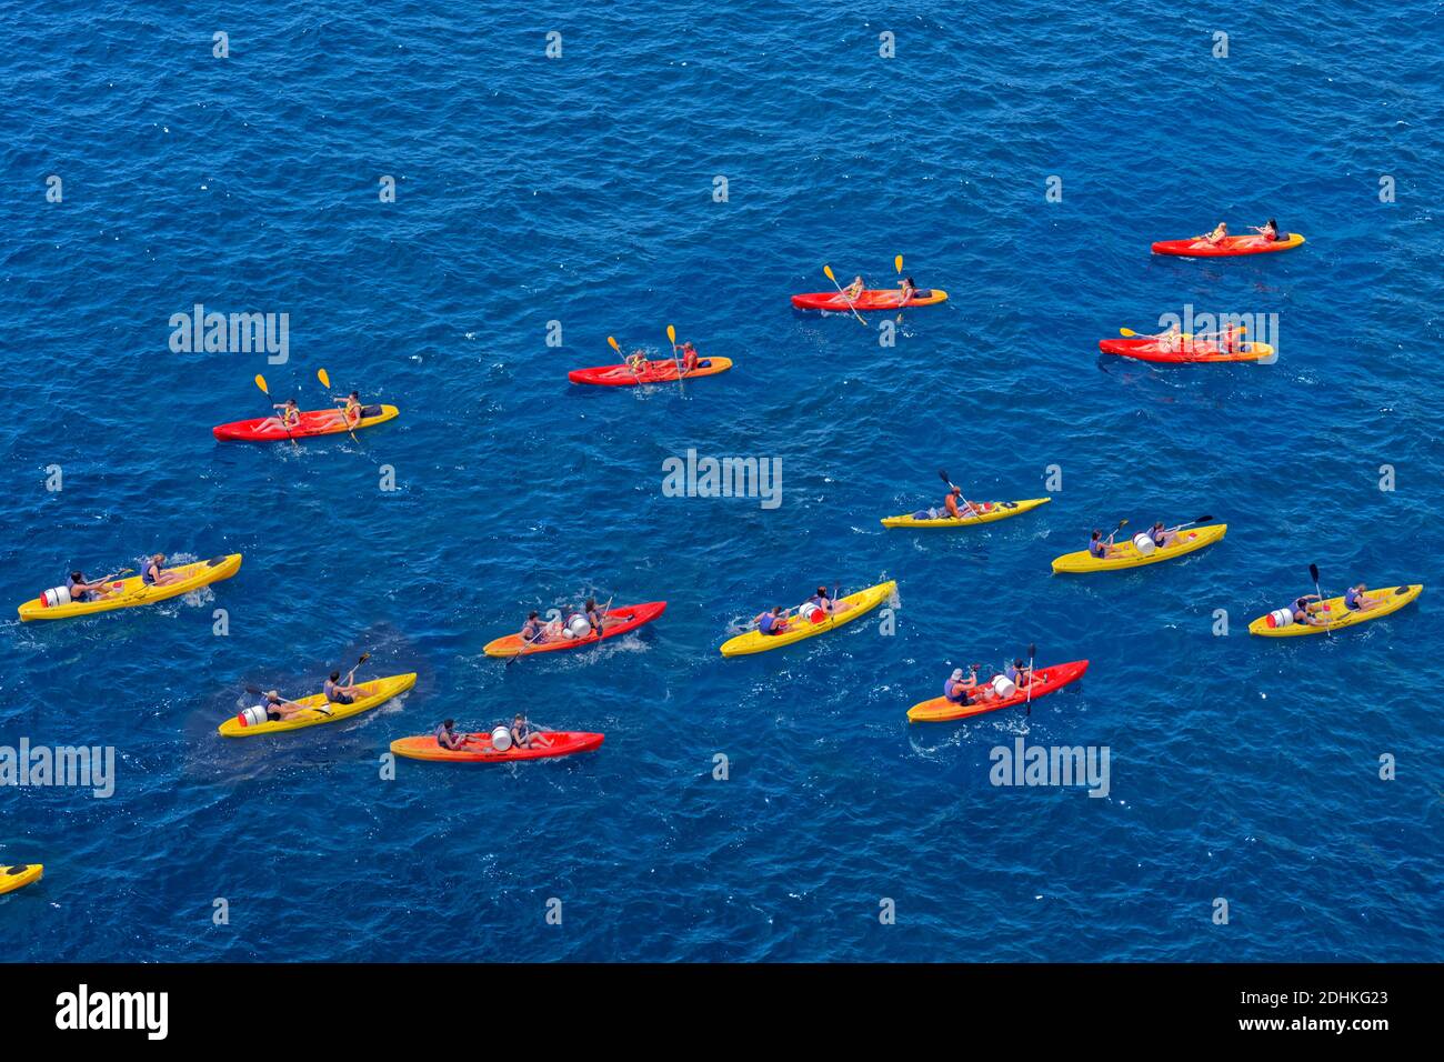
[[[245, 556], [196, 597], [0, 620], [0, 744], [113, 746], [118, 772], [110, 799], [0, 792], [0, 863], [46, 865], [0, 897], [6, 959], [1444, 959], [1437, 3], [107, 1], [6, 23], [7, 600], [149, 551]], [[1308, 243], [1149, 254], [1268, 215]], [[790, 309], [823, 263], [882, 286], [894, 254], [952, 295], [895, 345], [881, 315]], [[290, 360], [172, 353], [198, 302], [289, 314]], [[1276, 312], [1278, 363], [1097, 354], [1186, 305]], [[669, 322], [734, 370], [567, 384], [615, 360], [606, 335], [666, 350]], [[319, 367], [401, 416], [212, 439], [266, 413], [256, 373], [326, 405]], [[664, 497], [689, 448], [781, 458], [783, 504]], [[937, 503], [939, 468], [1053, 503], [884, 530]], [[1048, 572], [1093, 526], [1201, 513], [1229, 536], [1186, 559]], [[1310, 562], [1333, 592], [1431, 590], [1333, 637], [1251, 639]], [[891, 636], [868, 617], [716, 652], [817, 582], [884, 578]], [[588, 594], [669, 608], [585, 653], [482, 655]], [[952, 666], [1030, 642], [1086, 679], [1031, 715], [908, 727]], [[310, 692], [361, 652], [416, 688], [217, 735], [244, 685]], [[518, 708], [606, 743], [381, 777], [393, 738]], [[1108, 746], [1109, 795], [991, 785], [1018, 737]]]

